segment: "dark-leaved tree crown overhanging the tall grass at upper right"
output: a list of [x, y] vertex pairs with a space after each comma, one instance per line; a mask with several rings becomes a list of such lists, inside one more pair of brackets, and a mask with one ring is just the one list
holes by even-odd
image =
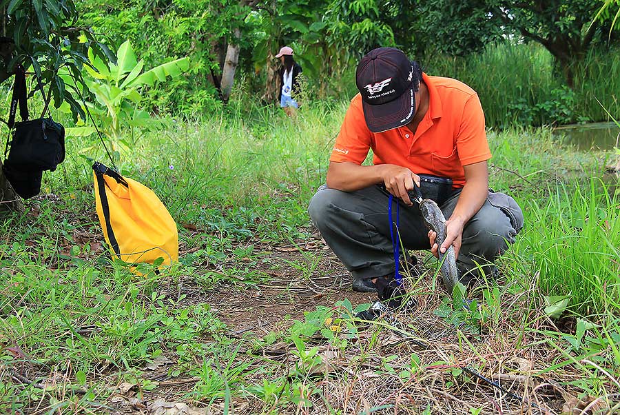
[[[619, 15], [617, 0], [413, 0], [403, 4], [414, 17], [409, 21], [417, 50], [468, 54], [490, 41], [535, 41], [552, 54], [571, 88], [575, 69], [591, 48], [608, 48], [619, 41], [618, 31], [610, 32]], [[599, 13], [601, 5], [605, 7]]]

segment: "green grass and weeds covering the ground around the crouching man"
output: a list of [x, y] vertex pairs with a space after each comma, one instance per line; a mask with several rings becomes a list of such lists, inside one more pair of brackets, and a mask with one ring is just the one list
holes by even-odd
[[[254, 108], [176, 120], [138, 141], [119, 167], [161, 197], [179, 224], [184, 253], [178, 265], [146, 279], [112, 263], [99, 245], [90, 161], [79, 156], [92, 141], [68, 139], [67, 161], [44, 174], [48, 196], [27, 201], [25, 214], [0, 222], [1, 411], [27, 413], [43, 402], [43, 413], [99, 413], [122, 382], [140, 394], [156, 388], [144, 367], [160, 356], [172, 360], [169, 378], [196, 378], [178, 400], [247, 400], [263, 413], [308, 405], [338, 413], [333, 408], [346, 399], [330, 398], [324, 382], [341, 382], [329, 385], [340, 392], [369, 382], [369, 399], [373, 379], [407, 387], [436, 367], [444, 368], [437, 376], [448, 376], [451, 393], [472, 382], [462, 380], [456, 352], [391, 350], [382, 343], [387, 323], [358, 332], [354, 307], [344, 298], [331, 307], [309, 306], [304, 318], [282, 321], [276, 332], [239, 338], [230, 331], [242, 327], [227, 327], [201, 297], [269, 285], [266, 267], [304, 281], [320, 272], [324, 257], [304, 248], [313, 232], [306, 209], [324, 181], [345, 110], [346, 103], [313, 103], [289, 119], [273, 108]], [[612, 382], [584, 359], [620, 374], [614, 363], [620, 356], [619, 211], [596, 179], [608, 155], [566, 148], [549, 130], [489, 132], [489, 141], [490, 184], [515, 196], [526, 227], [502, 258], [504, 287], [477, 290], [479, 315], [458, 316], [478, 330], [448, 324], [448, 333], [456, 333], [455, 347], [481, 368], [494, 364], [493, 345], [523, 354], [542, 349], [549, 357], [533, 357], [536, 373], [570, 372], [561, 381], [571, 392], [601, 396]], [[105, 163], [103, 154], [84, 155]], [[276, 261], [265, 245], [296, 246], [302, 254]], [[420, 292], [440, 303], [440, 290], [424, 286]], [[544, 296], [568, 293], [561, 319], [568, 329], [555, 330], [552, 324], [559, 323], [546, 316]], [[586, 320], [597, 326], [579, 323]], [[408, 323], [407, 330], [420, 329]], [[287, 357], [268, 357], [274, 355], [265, 350], [281, 352], [281, 344]], [[350, 359], [348, 370], [324, 375], [327, 352]], [[10, 374], [23, 367], [34, 380], [55, 374], [66, 385], [43, 391], [12, 381]], [[369, 373], [374, 377], [364, 378]], [[422, 409], [407, 410], [424, 407], [426, 401]]]

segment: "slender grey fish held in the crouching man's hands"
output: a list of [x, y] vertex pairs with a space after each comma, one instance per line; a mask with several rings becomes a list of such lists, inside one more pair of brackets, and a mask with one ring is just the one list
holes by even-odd
[[[442, 246], [442, 243], [446, 240], [446, 217], [442, 210], [437, 206], [437, 203], [432, 199], [422, 199], [420, 201], [420, 212], [422, 213], [422, 220], [428, 229], [435, 231], [437, 238], [435, 243], [437, 246]], [[450, 295], [453, 294], [454, 287], [459, 283], [459, 272], [456, 266], [456, 257], [454, 254], [454, 247], [450, 245], [448, 250], [442, 254], [441, 250], [437, 250], [441, 265], [442, 278], [446, 290]]]

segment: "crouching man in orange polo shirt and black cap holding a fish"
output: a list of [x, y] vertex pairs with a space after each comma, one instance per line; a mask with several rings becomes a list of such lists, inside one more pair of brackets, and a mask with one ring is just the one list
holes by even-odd
[[[453, 245], [465, 285], [480, 270], [493, 276], [493, 261], [514, 243], [523, 215], [510, 196], [488, 189], [491, 154], [476, 92], [455, 79], [429, 77], [395, 48], [366, 54], [355, 77], [360, 93], [335, 141], [327, 185], [308, 209], [351, 271], [353, 290], [378, 292], [389, 306], [400, 305], [404, 292], [395, 281], [393, 254], [399, 238], [408, 250], [435, 255]], [[362, 165], [369, 150], [373, 164]], [[446, 216], [440, 247], [409, 199], [414, 183]]]

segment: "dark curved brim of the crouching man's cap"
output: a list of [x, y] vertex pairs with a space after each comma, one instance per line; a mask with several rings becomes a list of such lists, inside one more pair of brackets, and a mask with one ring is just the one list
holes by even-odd
[[413, 87], [408, 88], [397, 99], [371, 105], [362, 100], [364, 119], [371, 132], [384, 132], [407, 125], [415, 114], [415, 94]]

